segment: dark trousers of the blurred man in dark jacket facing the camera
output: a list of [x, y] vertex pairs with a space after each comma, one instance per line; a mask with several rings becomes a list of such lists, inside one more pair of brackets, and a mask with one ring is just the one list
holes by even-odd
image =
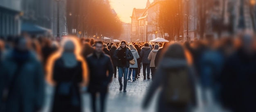
[[[91, 94], [91, 108], [92, 112], [97, 112], [96, 111], [96, 95], [97, 92], [90, 92]], [[106, 96], [107, 92], [99, 92], [100, 94], [100, 111], [99, 112], [105, 112], [105, 102], [106, 102]]]

